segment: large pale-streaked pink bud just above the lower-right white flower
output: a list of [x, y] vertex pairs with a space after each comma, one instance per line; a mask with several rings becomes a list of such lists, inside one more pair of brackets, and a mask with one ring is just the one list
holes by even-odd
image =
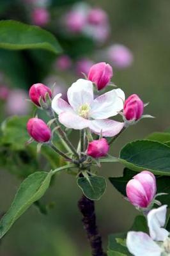
[[127, 197], [131, 204], [146, 208], [152, 202], [157, 191], [156, 179], [153, 173], [143, 171], [127, 183]]

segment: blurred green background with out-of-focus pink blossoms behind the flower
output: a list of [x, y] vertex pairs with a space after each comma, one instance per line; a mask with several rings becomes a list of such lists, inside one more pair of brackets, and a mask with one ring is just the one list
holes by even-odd
[[[150, 102], [145, 113], [156, 117], [130, 127], [112, 146], [111, 154], [118, 156], [128, 141], [144, 138], [153, 131], [164, 131], [170, 127], [169, 10], [170, 2], [166, 0], [0, 0], [0, 19], [42, 26], [56, 35], [63, 47], [59, 56], [45, 51], [0, 50], [1, 122], [12, 115], [32, 115], [33, 108], [25, 99], [33, 83], [52, 86], [56, 82], [56, 92], [65, 95], [66, 88], [82, 76], [81, 72], [87, 74], [93, 63], [107, 61], [114, 70], [112, 82], [123, 89], [127, 97], [137, 93], [144, 102]], [[76, 140], [76, 134], [74, 136]], [[2, 147], [1, 153], [4, 154]], [[18, 152], [14, 150], [13, 154], [17, 156]], [[7, 164], [10, 158], [4, 161], [3, 156], [2, 214], [28, 172], [22, 169], [22, 164], [13, 167], [13, 171], [14, 162]], [[32, 162], [28, 159], [27, 164], [32, 164], [35, 172], [36, 165]], [[45, 166], [42, 169], [45, 170]], [[121, 164], [103, 164], [99, 171], [104, 177], [122, 172]], [[90, 255], [77, 209], [80, 197], [74, 177], [65, 173], [58, 175], [42, 198], [42, 204], [50, 203], [53, 208], [48, 214], [41, 214], [32, 206], [1, 241], [0, 255]], [[96, 210], [105, 247], [108, 234], [128, 230], [137, 214], [109, 180], [106, 193], [96, 202]]]

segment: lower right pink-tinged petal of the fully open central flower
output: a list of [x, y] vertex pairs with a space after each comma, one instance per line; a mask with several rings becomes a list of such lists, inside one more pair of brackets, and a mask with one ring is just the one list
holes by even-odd
[[123, 129], [124, 123], [116, 122], [114, 120], [105, 119], [105, 120], [92, 120], [89, 121], [89, 128], [91, 131], [100, 134], [105, 137], [112, 137], [118, 134], [121, 129]]

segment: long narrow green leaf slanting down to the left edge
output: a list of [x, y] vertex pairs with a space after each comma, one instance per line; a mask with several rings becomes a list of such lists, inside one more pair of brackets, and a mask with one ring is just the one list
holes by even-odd
[[49, 188], [52, 172], [35, 172], [20, 185], [10, 209], [0, 221], [0, 238], [8, 232], [13, 223]]

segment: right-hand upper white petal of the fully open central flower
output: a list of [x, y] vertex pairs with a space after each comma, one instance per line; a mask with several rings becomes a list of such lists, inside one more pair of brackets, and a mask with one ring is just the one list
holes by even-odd
[[121, 89], [104, 93], [94, 100], [90, 116], [95, 119], [116, 116], [123, 109], [124, 100], [125, 93]]

